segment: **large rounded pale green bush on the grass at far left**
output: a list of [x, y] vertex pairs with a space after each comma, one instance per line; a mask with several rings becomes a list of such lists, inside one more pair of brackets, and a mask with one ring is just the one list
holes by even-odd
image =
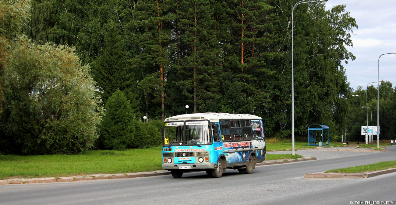
[[98, 137], [101, 100], [95, 96], [89, 67], [81, 65], [74, 49], [21, 37], [6, 60], [0, 141], [13, 147], [7, 152], [72, 154], [91, 149]]

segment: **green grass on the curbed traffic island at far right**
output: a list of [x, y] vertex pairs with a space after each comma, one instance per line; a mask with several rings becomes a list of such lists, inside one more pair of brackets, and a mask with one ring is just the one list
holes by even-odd
[[362, 166], [356, 166], [356, 167], [347, 167], [347, 168], [342, 168], [342, 169], [332, 169], [328, 172], [337, 172], [337, 173], [362, 173], [362, 172], [368, 172], [368, 171], [380, 171], [380, 170], [385, 170], [385, 169], [390, 169], [390, 168], [396, 168], [396, 161], [388, 161], [388, 162], [379, 162], [375, 164], [367, 164], [367, 165], [362, 165]]

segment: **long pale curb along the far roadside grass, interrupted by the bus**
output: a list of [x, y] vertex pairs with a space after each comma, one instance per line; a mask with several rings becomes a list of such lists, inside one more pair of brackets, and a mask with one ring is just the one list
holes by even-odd
[[[297, 159], [297, 160], [264, 162], [264, 163], [255, 164], [255, 166], [263, 166], [263, 165], [271, 165], [271, 164], [284, 164], [284, 163], [289, 163], [289, 162], [301, 162], [301, 161], [307, 161], [307, 160], [316, 160], [316, 158], [304, 158], [304, 159]], [[154, 176], [170, 175], [170, 174], [171, 174], [170, 171], [157, 170], [157, 171], [152, 171], [152, 172], [147, 172], [147, 173], [129, 173], [129, 174], [109, 175], [109, 176], [101, 175], [101, 176], [68, 177], [68, 178], [55, 178], [55, 179], [17, 179], [17, 180], [0, 181], [0, 185], [91, 181], [91, 180], [99, 180], [99, 179], [128, 179], [128, 178], [137, 178], [137, 177], [154, 177]]]

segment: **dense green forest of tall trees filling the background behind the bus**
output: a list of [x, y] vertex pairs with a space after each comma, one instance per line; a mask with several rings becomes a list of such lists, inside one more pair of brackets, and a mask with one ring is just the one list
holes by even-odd
[[[77, 137], [81, 141], [77, 143], [79, 148], [71, 152], [93, 147], [142, 147], [136, 139], [118, 141], [123, 145], [109, 142], [114, 138], [109, 133], [122, 129], [123, 132], [117, 135], [141, 137], [136, 134], [137, 130], [156, 130], [160, 123], [154, 121], [185, 113], [185, 105], [190, 106], [189, 113], [258, 115], [263, 118], [267, 137], [290, 137], [291, 9], [298, 0], [1, 2], [4, 5], [0, 7], [0, 20], [8, 23], [0, 28], [0, 132], [3, 136], [0, 137], [3, 142], [0, 152], [8, 150], [4, 148], [6, 144], [24, 147], [28, 143], [28, 148], [12, 152], [34, 154], [37, 152], [32, 150], [53, 146], [51, 141], [63, 141], [53, 138], [56, 131], [51, 130], [51, 126], [55, 124], [49, 125], [49, 122], [63, 124], [62, 119], [69, 117], [71, 111], [62, 106], [63, 100], [69, 98], [68, 92], [72, 91], [63, 90], [61, 96], [47, 95], [46, 100], [32, 109], [36, 106], [33, 102], [39, 102], [44, 96], [44, 92], [37, 91], [32, 84], [42, 84], [37, 80], [40, 77], [48, 82], [48, 79], [63, 76], [59, 79], [65, 83], [64, 87], [70, 87], [67, 83], [72, 77], [64, 69], [73, 72], [74, 68], [81, 74], [72, 81], [87, 81], [86, 93], [82, 93], [82, 89], [75, 98], [91, 100], [91, 104], [80, 103], [93, 111], [89, 115], [98, 122], [84, 119], [80, 125], [76, 124], [81, 126], [89, 121], [96, 129], [84, 127], [78, 132], [73, 131], [74, 135], [90, 135], [84, 139]], [[11, 17], [5, 12], [10, 8]], [[308, 126], [325, 124], [330, 127], [332, 139], [340, 140], [346, 132], [347, 140], [362, 141], [360, 126], [366, 125], [366, 110], [361, 107], [366, 106], [362, 97], [366, 96], [366, 90], [350, 88], [343, 67], [343, 63], [355, 59], [347, 50], [352, 46], [350, 35], [358, 27], [355, 19], [345, 10], [345, 5], [326, 10], [323, 2], [297, 6], [293, 18], [296, 134], [306, 136]], [[13, 33], [7, 26], [11, 26]], [[42, 49], [43, 46], [48, 51]], [[11, 59], [26, 47], [32, 47], [29, 58], [20, 55], [19, 64], [17, 58]], [[33, 65], [30, 61], [35, 60], [34, 52], [41, 53], [42, 59], [58, 60]], [[72, 55], [76, 67], [68, 68], [68, 62], [59, 60], [59, 56], [45, 55], [45, 52]], [[27, 62], [23, 63], [23, 60]], [[61, 65], [62, 62], [65, 65]], [[36, 67], [46, 69], [39, 73], [29, 71]], [[60, 73], [51, 69], [60, 70]], [[26, 82], [11, 71], [24, 75]], [[13, 82], [9, 81], [10, 77]], [[15, 86], [21, 83], [25, 84]], [[59, 81], [52, 83], [53, 87], [59, 88]], [[15, 90], [20, 92], [15, 93]], [[373, 108], [373, 116], [377, 107], [374, 105], [375, 92], [375, 87], [369, 87], [368, 107]], [[384, 122], [381, 123], [382, 136], [390, 139], [394, 137], [396, 125], [393, 120], [396, 119], [396, 94], [389, 82], [381, 84], [380, 92], [380, 112], [384, 113], [380, 117], [380, 122]], [[32, 93], [35, 98], [31, 97]], [[360, 98], [350, 97], [357, 94]], [[29, 99], [24, 99], [26, 96]], [[58, 101], [49, 103], [55, 98]], [[29, 103], [25, 103], [26, 100]], [[73, 103], [70, 109], [75, 105]], [[46, 106], [47, 112], [43, 109]], [[25, 111], [27, 107], [29, 109]], [[121, 108], [121, 112], [112, 111]], [[19, 111], [23, 114], [18, 116], [15, 113]], [[81, 115], [83, 113], [88, 111], [82, 111]], [[44, 120], [46, 114], [48, 118]], [[23, 115], [25, 121], [19, 119]], [[33, 130], [26, 131], [24, 123], [29, 124], [26, 116], [32, 115], [30, 120], [41, 121], [30, 124]], [[121, 118], [112, 118], [112, 115], [122, 115], [124, 121], [137, 124], [111, 127], [109, 123], [120, 124], [117, 120]], [[152, 124], [139, 124], [143, 115]], [[66, 129], [70, 124], [63, 126]], [[52, 134], [43, 135], [46, 132]], [[69, 133], [68, 130], [64, 132]], [[144, 135], [154, 134], [146, 132]], [[40, 137], [36, 139], [34, 136]], [[159, 138], [149, 137], [150, 140]], [[69, 153], [65, 151], [69, 148], [65, 147], [75, 145], [71, 143], [74, 139], [68, 140], [70, 143], [63, 148], [49, 153]], [[32, 144], [36, 142], [41, 145], [34, 145], [34, 148]]]

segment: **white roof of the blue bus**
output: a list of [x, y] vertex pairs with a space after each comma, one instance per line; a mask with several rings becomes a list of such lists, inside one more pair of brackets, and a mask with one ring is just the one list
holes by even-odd
[[261, 119], [261, 117], [249, 114], [230, 114], [230, 113], [192, 113], [184, 115], [176, 115], [165, 119], [167, 121], [175, 120], [214, 120], [214, 119]]

